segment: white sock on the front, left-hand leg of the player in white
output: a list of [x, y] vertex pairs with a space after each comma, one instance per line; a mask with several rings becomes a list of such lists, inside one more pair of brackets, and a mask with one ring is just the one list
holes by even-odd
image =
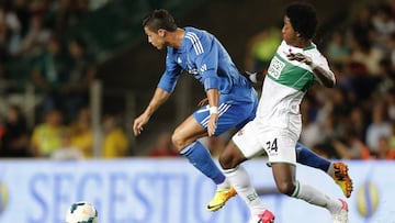
[[225, 171], [226, 178], [237, 191], [237, 194], [244, 200], [252, 215], [260, 214], [266, 208], [263, 207], [257, 191], [250, 182], [250, 178], [242, 166]]

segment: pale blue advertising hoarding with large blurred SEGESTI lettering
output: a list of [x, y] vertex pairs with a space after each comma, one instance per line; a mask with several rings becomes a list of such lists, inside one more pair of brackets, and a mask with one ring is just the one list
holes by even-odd
[[[354, 192], [350, 223], [395, 223], [395, 163], [347, 161]], [[330, 223], [321, 208], [279, 194], [264, 159], [245, 163], [276, 222]], [[297, 166], [297, 179], [334, 198], [340, 189], [320, 170]], [[235, 197], [217, 212], [205, 210], [215, 187], [187, 159], [1, 160], [0, 223], [61, 223], [70, 203], [92, 202], [100, 223], [242, 223], [249, 218]]]

